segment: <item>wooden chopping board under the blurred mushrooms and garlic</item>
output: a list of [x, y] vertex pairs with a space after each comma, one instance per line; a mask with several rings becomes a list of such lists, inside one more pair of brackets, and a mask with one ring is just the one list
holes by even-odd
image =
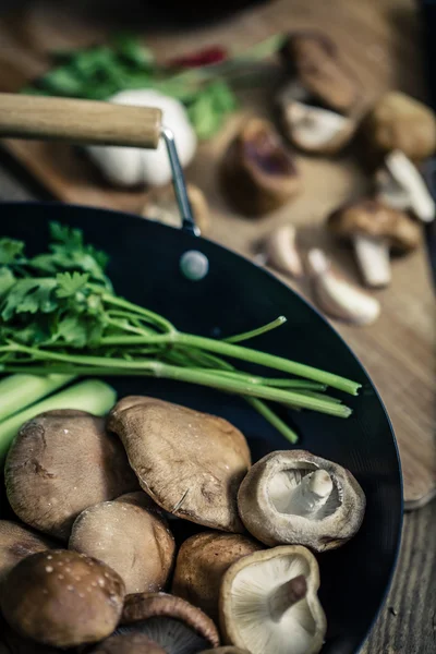
[[[16, 21], [0, 23], [0, 90], [17, 90], [49, 65], [49, 50], [100, 40], [110, 25], [98, 29], [83, 8], [68, 3], [34, 2]], [[75, 4], [75, 3], [74, 3]], [[175, 56], [219, 43], [243, 50], [271, 34], [315, 27], [329, 34], [355, 72], [368, 100], [386, 88], [423, 96], [423, 66], [417, 48], [420, 31], [414, 0], [276, 0], [213, 27], [147, 35], [159, 57]], [[81, 13], [82, 12], [82, 13]], [[323, 229], [328, 211], [368, 190], [358, 164], [359, 153], [335, 160], [299, 156], [304, 191], [291, 204], [258, 220], [243, 219], [226, 204], [217, 184], [217, 161], [246, 114], [268, 113], [268, 89], [244, 94], [244, 109], [232, 117], [213, 142], [203, 144], [187, 171], [210, 203], [213, 240], [253, 257], [258, 243], [275, 226], [292, 221], [300, 228], [302, 250], [323, 246], [338, 265], [359, 281], [351, 254]], [[8, 141], [4, 146], [55, 196], [72, 203], [141, 211], [145, 193], [110, 189], [73, 147]], [[311, 300], [306, 283], [283, 281]], [[383, 313], [367, 328], [339, 323], [346, 338], [367, 368], [387, 407], [400, 447], [407, 507], [422, 506], [436, 495], [435, 444], [435, 301], [424, 246], [395, 262], [391, 286], [377, 293]]]

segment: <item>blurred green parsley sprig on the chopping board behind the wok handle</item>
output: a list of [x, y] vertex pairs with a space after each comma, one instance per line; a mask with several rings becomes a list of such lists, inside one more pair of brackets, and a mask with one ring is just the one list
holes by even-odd
[[256, 64], [276, 55], [283, 41], [275, 35], [247, 51], [195, 69], [160, 65], [134, 35], [53, 56], [53, 68], [23, 93], [107, 100], [128, 89], [153, 88], [180, 100], [201, 140], [213, 137], [238, 108], [235, 90], [259, 77]]

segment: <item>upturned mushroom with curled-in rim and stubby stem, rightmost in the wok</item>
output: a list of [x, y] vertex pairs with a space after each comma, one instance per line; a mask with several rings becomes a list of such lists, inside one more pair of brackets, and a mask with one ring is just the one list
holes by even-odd
[[262, 543], [325, 552], [358, 532], [365, 495], [339, 463], [304, 450], [276, 451], [253, 465], [238, 506], [246, 529]]

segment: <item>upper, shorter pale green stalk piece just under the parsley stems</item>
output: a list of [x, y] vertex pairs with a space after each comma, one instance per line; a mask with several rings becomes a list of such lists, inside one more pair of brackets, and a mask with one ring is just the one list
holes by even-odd
[[74, 375], [10, 375], [0, 382], [0, 421], [74, 379]]

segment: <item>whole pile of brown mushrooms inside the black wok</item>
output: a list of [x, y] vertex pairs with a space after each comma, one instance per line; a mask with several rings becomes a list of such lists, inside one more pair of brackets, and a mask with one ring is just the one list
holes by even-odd
[[[311, 550], [365, 510], [339, 464], [293, 450], [252, 465], [226, 420], [140, 396], [106, 423], [24, 424], [5, 484], [23, 524], [0, 520], [1, 654], [316, 654]], [[195, 532], [180, 543], [181, 520]]]

